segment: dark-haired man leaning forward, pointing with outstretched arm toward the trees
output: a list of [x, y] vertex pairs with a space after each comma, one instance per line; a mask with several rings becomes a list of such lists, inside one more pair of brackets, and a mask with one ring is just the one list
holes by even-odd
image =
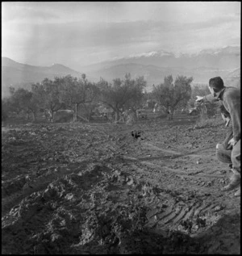
[[[231, 183], [223, 187], [223, 191], [231, 191], [240, 186], [240, 89], [224, 86], [223, 79], [220, 77], [209, 80], [209, 90], [211, 94], [197, 96], [197, 102], [220, 100], [225, 109], [229, 112], [232, 120], [233, 137], [228, 141], [232, 145], [232, 171]], [[240, 188], [236, 191], [236, 196], [240, 196]]]

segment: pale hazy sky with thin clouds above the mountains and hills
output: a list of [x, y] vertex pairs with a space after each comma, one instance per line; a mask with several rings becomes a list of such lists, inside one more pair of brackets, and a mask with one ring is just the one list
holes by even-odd
[[2, 2], [2, 57], [81, 71], [151, 51], [240, 45], [240, 2]]

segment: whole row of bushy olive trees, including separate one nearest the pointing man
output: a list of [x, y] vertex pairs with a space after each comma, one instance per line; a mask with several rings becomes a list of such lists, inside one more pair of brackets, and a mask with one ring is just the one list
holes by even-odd
[[54, 80], [45, 78], [40, 83], [31, 86], [31, 90], [10, 87], [10, 97], [2, 99], [2, 118], [8, 113], [21, 111], [32, 115], [35, 120], [39, 111], [48, 111], [52, 116], [60, 109], [72, 109], [73, 120], [82, 110], [81, 118], [90, 118], [94, 108], [102, 104], [109, 107], [115, 114], [115, 120], [119, 120], [120, 113], [130, 109], [136, 111], [144, 106], [147, 99], [156, 99], [167, 110], [173, 112], [177, 107], [186, 107], [191, 98], [191, 82], [193, 78], [178, 76], [173, 82], [172, 75], [166, 77], [164, 82], [153, 86], [151, 93], [145, 92], [147, 82], [144, 77], [132, 79], [127, 73], [123, 79], [116, 78], [108, 83], [103, 78], [97, 83], [90, 82], [86, 74], [81, 78], [73, 78], [68, 75]]

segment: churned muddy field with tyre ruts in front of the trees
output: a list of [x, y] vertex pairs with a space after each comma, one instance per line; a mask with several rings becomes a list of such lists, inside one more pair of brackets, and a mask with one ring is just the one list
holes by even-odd
[[240, 254], [226, 128], [195, 122], [3, 127], [2, 254]]

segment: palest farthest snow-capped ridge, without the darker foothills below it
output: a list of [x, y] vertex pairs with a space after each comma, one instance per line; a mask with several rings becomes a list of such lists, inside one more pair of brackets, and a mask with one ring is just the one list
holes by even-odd
[[[218, 49], [206, 49], [196, 54], [174, 54], [173, 52], [145, 52], [130, 57], [123, 57], [111, 61], [103, 61], [94, 65], [87, 65], [87, 69], [100, 69], [120, 64], [156, 65], [163, 68], [196, 69], [201, 67], [212, 69], [236, 69], [240, 67], [240, 47], [227, 46]], [[82, 67], [85, 68], [85, 67]]]

